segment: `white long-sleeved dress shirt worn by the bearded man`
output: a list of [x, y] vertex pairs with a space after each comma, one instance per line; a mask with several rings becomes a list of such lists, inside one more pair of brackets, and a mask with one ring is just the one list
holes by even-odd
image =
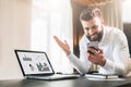
[[[73, 53], [69, 55], [70, 61], [81, 74], [87, 73], [92, 65], [86, 53], [87, 42], [90, 40], [83, 35], [80, 42], [80, 59]], [[98, 72], [126, 76], [128, 72], [127, 60], [130, 59], [130, 54], [123, 32], [115, 27], [104, 26], [104, 35], [98, 47], [103, 49], [106, 58], [105, 66], [99, 66]]]

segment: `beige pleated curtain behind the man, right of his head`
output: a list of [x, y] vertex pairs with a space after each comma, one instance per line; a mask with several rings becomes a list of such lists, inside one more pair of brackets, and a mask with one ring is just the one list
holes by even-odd
[[105, 25], [118, 27], [119, 29], [123, 29], [122, 27], [122, 0], [114, 0], [114, 2], [102, 5], [104, 11], [104, 21]]

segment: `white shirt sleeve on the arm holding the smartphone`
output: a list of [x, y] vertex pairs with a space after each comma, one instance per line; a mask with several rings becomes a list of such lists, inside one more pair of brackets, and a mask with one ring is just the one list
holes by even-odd
[[128, 41], [124, 34], [120, 33], [115, 37], [112, 61], [106, 60], [104, 69], [119, 75], [126, 75], [126, 61], [130, 58]]

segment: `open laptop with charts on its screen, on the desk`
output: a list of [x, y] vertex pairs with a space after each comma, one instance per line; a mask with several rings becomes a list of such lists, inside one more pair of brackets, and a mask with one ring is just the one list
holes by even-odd
[[70, 79], [78, 78], [74, 74], [56, 74], [46, 52], [14, 50], [23, 76], [35, 79]]

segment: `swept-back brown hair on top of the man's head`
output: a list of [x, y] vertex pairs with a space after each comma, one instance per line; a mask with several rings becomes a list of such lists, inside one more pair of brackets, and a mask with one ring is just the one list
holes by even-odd
[[90, 21], [93, 17], [98, 16], [99, 18], [103, 20], [103, 14], [100, 9], [98, 8], [87, 8], [83, 10], [80, 14], [80, 21]]

